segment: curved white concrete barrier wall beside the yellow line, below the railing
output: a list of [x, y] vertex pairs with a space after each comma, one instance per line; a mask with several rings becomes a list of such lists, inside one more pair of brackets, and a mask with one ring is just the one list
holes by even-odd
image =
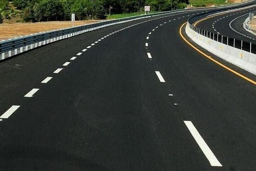
[[186, 33], [196, 44], [223, 60], [256, 75], [256, 54], [243, 51], [204, 37], [186, 26]]

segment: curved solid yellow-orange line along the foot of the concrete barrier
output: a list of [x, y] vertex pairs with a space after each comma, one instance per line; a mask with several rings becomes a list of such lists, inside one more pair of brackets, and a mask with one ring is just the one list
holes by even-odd
[[[186, 22], [186, 23], [187, 23], [187, 22]], [[256, 85], [256, 81], [254, 81], [254, 80], [252, 80], [252, 79], [250, 79], [250, 78], [248, 78], [248, 77], [246, 77], [246, 76], [240, 74], [239, 72], [237, 72], [237, 71], [235, 71], [235, 70], [232, 70], [231, 68], [229, 68], [229, 67], [227, 67], [226, 65], [222, 64], [221, 62], [216, 61], [216, 60], [213, 59], [211, 56], [205, 54], [204, 52], [202, 52], [201, 50], [199, 50], [197, 47], [195, 47], [194, 45], [192, 45], [192, 44], [183, 36], [183, 34], [182, 34], [182, 27], [184, 27], [184, 25], [185, 25], [186, 23], [183, 23], [182, 26], [180, 27], [180, 35], [181, 35], [182, 39], [183, 39], [187, 44], [190, 45], [190, 47], [194, 48], [194, 49], [195, 49], [196, 51], [198, 51], [200, 54], [204, 55], [206, 58], [208, 58], [209, 60], [215, 62], [215, 63], [218, 64], [218, 65], [220, 65], [220, 66], [223, 67], [224, 69], [229, 70], [230, 72], [234, 73], [235, 75], [237, 75], [237, 76], [239, 76], [239, 77], [241, 77], [241, 78], [243, 78], [243, 79], [249, 81], [250, 83]]]

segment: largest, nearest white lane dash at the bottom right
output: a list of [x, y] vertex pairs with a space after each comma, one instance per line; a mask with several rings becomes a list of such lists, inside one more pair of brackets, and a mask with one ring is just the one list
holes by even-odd
[[193, 125], [191, 121], [184, 121], [186, 126], [188, 127], [190, 133], [198, 143], [198, 146], [201, 148], [206, 158], [210, 162], [211, 166], [222, 167], [222, 164], [218, 161], [218, 159], [213, 154], [212, 150], [208, 147], [205, 140], [201, 137], [196, 127]]

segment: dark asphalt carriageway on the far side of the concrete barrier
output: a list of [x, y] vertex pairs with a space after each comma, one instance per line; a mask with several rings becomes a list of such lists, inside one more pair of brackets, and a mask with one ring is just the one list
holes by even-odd
[[196, 26], [213, 33], [256, 43], [256, 36], [243, 28], [248, 13], [255, 11], [256, 7], [251, 7], [227, 12], [202, 20]]

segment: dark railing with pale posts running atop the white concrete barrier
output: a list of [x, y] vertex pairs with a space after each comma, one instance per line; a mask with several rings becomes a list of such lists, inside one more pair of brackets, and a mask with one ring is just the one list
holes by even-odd
[[[252, 4], [250, 5], [254, 5], [256, 2], [253, 1]], [[195, 23], [196, 21], [198, 21], [199, 19], [202, 19], [206, 16], [215, 14], [215, 13], [219, 13], [219, 12], [223, 12], [226, 10], [231, 10], [231, 9], [237, 9], [237, 8], [243, 8], [243, 7], [247, 7], [247, 5], [241, 5], [239, 7], [234, 7], [234, 8], [223, 8], [223, 9], [217, 9], [214, 11], [210, 11], [210, 12], [206, 12], [204, 14], [199, 14], [193, 17], [190, 17], [188, 20], [188, 26], [190, 27], [190, 29], [192, 29], [193, 31], [197, 32], [198, 34], [207, 37], [209, 39], [212, 39], [214, 41], [220, 42], [222, 44], [234, 47], [234, 48], [238, 48], [244, 51], [247, 51], [249, 53], [253, 53], [256, 54], [256, 44], [251, 43], [251, 42], [247, 42], [247, 41], [243, 41], [243, 40], [239, 40], [239, 39], [234, 39], [234, 38], [230, 38], [224, 35], [220, 35], [217, 33], [213, 33], [210, 31], [206, 31], [204, 29], [200, 29], [198, 27], [195, 27], [193, 25], [193, 23]]]

